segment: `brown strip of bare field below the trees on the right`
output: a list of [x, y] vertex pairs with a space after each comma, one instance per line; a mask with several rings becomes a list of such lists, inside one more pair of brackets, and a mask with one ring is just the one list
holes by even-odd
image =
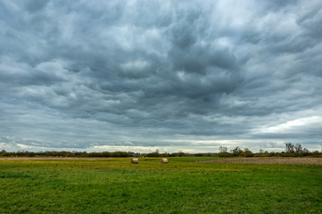
[[257, 163], [257, 164], [314, 164], [322, 165], [322, 158], [282, 158], [282, 157], [255, 157], [255, 158], [229, 158], [205, 162], [227, 163]]

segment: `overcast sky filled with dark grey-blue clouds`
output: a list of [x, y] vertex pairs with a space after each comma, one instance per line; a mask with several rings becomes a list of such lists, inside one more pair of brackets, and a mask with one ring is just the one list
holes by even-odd
[[0, 149], [322, 148], [320, 0], [0, 1]]

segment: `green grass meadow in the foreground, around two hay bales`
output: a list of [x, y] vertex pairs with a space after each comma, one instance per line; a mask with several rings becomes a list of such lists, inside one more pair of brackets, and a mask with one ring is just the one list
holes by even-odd
[[0, 161], [0, 213], [322, 213], [321, 165]]

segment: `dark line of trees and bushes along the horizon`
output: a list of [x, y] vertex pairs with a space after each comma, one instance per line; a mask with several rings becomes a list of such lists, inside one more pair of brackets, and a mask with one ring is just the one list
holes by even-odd
[[242, 150], [239, 146], [227, 151], [227, 146], [219, 146], [219, 152], [206, 153], [188, 153], [188, 152], [68, 152], [68, 151], [45, 151], [45, 152], [6, 152], [0, 151], [0, 157], [74, 157], [74, 158], [96, 158], [96, 157], [186, 157], [186, 156], [214, 156], [214, 157], [322, 157], [322, 151], [310, 152], [302, 148], [301, 144], [285, 144], [285, 152], [268, 152], [260, 149], [260, 152], [252, 152], [245, 148]]

